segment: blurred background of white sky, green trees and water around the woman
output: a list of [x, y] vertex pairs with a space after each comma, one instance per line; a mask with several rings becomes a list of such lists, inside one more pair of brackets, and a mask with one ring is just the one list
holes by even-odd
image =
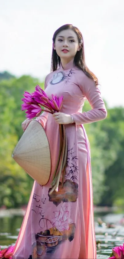
[[[52, 37], [54, 31], [66, 23], [73, 24], [82, 32], [86, 64], [98, 77], [108, 112], [105, 120], [84, 125], [91, 147], [97, 242], [101, 240], [98, 227], [112, 228], [113, 223], [114, 227], [123, 226], [123, 13], [123, 0], [0, 0], [2, 248], [14, 243], [18, 236], [33, 185], [30, 176], [11, 156], [23, 133], [21, 123], [25, 113], [21, 111], [22, 95], [24, 90], [34, 91], [36, 84], [44, 89], [44, 79], [50, 73]], [[86, 102], [83, 111], [89, 109], [91, 107]], [[110, 246], [116, 240], [112, 241], [111, 233], [110, 245], [105, 249], [106, 229], [102, 231], [102, 241], [98, 242], [98, 258], [107, 258]], [[120, 233], [115, 232], [119, 238]], [[102, 254], [104, 257], [101, 257]]]

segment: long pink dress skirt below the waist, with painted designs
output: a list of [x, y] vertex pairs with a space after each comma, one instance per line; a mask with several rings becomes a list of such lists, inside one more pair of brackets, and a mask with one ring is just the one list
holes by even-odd
[[[52, 171], [46, 186], [34, 182], [12, 258], [96, 258], [88, 139], [83, 126], [65, 125], [65, 182], [49, 195], [59, 150], [59, 126], [48, 119]], [[56, 135], [53, 134], [56, 132]]]

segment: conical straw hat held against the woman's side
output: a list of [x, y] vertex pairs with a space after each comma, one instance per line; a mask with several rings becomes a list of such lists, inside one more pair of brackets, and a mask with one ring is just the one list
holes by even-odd
[[16, 145], [12, 157], [40, 185], [46, 185], [51, 173], [49, 141], [42, 125], [32, 120]]

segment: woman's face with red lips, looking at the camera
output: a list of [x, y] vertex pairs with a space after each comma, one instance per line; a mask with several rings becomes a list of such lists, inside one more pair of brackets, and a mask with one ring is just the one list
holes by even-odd
[[80, 50], [76, 33], [71, 29], [59, 32], [53, 48], [61, 59], [70, 60], [74, 58], [76, 52]]

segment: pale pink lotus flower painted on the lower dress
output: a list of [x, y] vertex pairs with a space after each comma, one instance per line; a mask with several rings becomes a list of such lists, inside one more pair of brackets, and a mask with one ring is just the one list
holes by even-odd
[[69, 224], [74, 223], [66, 206], [61, 206], [59, 211], [54, 211], [54, 218], [51, 219], [51, 222], [53, 227], [56, 227], [59, 231], [69, 230]]

